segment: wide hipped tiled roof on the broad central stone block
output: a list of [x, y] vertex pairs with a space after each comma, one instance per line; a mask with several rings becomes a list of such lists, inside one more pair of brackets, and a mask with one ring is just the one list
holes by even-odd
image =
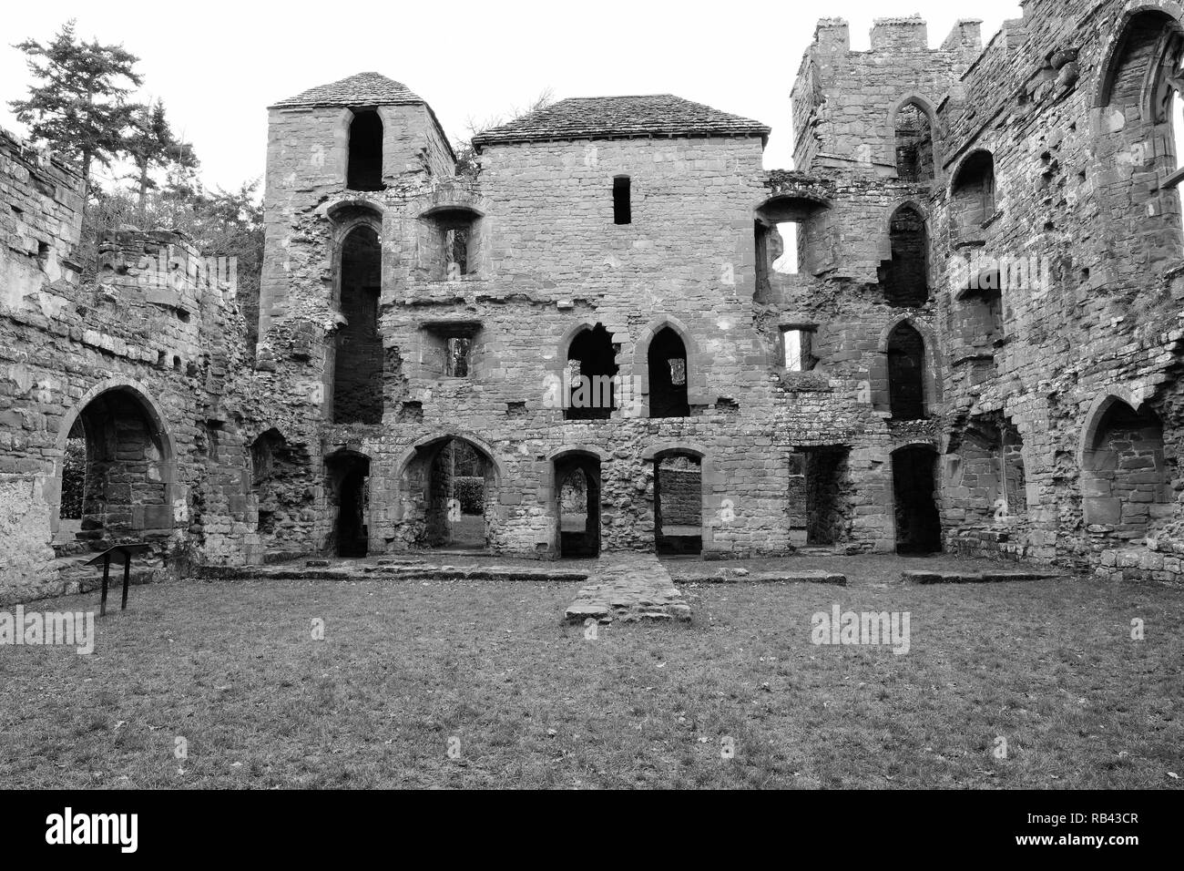
[[472, 139], [482, 146], [502, 142], [545, 142], [564, 139], [628, 139], [632, 136], [760, 136], [770, 128], [673, 94], [631, 97], [571, 97]]

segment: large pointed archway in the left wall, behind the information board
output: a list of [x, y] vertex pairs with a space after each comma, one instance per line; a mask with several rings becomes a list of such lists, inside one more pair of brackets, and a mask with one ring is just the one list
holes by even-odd
[[114, 389], [92, 399], [71, 425], [57, 513], [59, 540], [102, 551], [168, 538], [174, 507], [168, 457], [140, 397]]

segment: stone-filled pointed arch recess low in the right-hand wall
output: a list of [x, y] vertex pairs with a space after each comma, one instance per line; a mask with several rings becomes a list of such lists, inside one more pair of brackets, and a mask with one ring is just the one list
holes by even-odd
[[1172, 512], [1164, 427], [1150, 408], [1113, 401], [1087, 444], [1081, 470], [1090, 533], [1115, 543], [1143, 539]]

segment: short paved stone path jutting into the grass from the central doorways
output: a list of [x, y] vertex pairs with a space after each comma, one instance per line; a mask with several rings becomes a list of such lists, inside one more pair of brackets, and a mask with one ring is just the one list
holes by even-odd
[[597, 561], [564, 617], [570, 623], [690, 620], [690, 606], [656, 556], [613, 553]]

